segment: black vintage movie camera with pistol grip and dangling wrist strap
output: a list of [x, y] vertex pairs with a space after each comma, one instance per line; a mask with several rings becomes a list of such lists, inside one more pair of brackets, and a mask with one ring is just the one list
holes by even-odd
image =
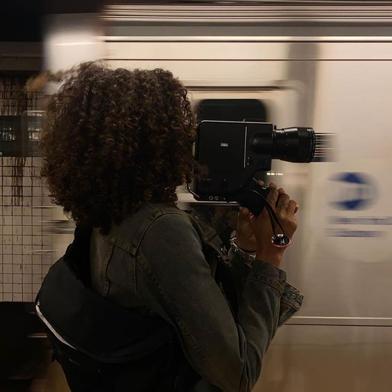
[[[195, 160], [205, 170], [188, 184], [188, 190], [199, 201], [238, 202], [256, 216], [266, 207], [275, 234], [273, 220], [280, 224], [266, 201], [269, 188], [259, 186], [254, 174], [270, 170], [272, 159], [297, 163], [309, 163], [315, 156], [320, 159], [325, 135], [316, 135], [308, 127], [277, 129], [253, 119], [204, 120], [197, 129]], [[275, 245], [288, 245], [284, 234], [274, 237]]]

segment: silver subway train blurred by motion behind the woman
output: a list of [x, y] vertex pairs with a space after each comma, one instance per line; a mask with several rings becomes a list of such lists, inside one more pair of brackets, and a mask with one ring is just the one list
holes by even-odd
[[[186, 85], [199, 120], [334, 134], [332, 158], [276, 160], [262, 174], [300, 205], [282, 268], [305, 299], [279, 328], [254, 391], [391, 391], [392, 2], [150, 2], [106, 6], [89, 21], [75, 46], [77, 29], [61, 30], [70, 15], [49, 20], [46, 67], [78, 56], [162, 67]], [[181, 209], [236, 209], [178, 195]], [[72, 225], [60, 209], [51, 219], [55, 260]]]

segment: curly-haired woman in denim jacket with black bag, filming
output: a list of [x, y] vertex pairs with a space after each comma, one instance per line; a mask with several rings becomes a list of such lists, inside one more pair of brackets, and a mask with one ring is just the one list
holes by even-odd
[[[266, 211], [240, 211], [228, 256], [211, 227], [177, 208], [195, 165], [186, 93], [168, 71], [85, 63], [49, 103], [42, 175], [79, 228], [65, 255], [79, 281], [61, 291], [68, 278], [54, 266], [38, 311], [72, 391], [252, 391], [277, 327], [300, 308]], [[297, 204], [270, 188], [292, 237]]]

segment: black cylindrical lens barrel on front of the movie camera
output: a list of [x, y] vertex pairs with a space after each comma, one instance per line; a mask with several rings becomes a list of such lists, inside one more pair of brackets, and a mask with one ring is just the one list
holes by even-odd
[[316, 150], [313, 128], [284, 128], [273, 131], [272, 158], [286, 162], [311, 162]]

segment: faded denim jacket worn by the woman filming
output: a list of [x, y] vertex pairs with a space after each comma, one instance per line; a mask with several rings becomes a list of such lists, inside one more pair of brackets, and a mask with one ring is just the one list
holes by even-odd
[[[108, 235], [95, 230], [90, 245], [92, 286], [174, 327], [201, 376], [193, 391], [252, 391], [277, 327], [302, 304], [283, 270], [224, 254], [213, 229], [175, 206], [147, 203]], [[219, 258], [236, 283], [236, 314], [214, 279]]]

